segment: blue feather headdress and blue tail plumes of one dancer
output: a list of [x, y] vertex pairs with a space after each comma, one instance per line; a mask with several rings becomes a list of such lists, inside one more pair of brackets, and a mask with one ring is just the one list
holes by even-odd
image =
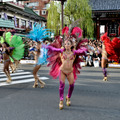
[[[36, 42], [40, 41], [43, 42], [43, 40], [47, 37], [50, 37], [50, 31], [48, 31], [49, 29], [45, 29], [44, 27], [41, 27], [41, 24], [38, 25], [34, 25], [33, 26], [33, 30], [30, 31], [30, 33], [28, 34], [28, 37]], [[43, 65], [43, 64], [47, 64], [47, 49], [45, 48], [41, 48], [40, 49], [40, 56], [38, 57], [37, 60], [37, 65]]]

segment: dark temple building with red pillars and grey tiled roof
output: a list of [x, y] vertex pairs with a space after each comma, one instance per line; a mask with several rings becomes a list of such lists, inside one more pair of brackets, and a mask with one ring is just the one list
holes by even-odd
[[94, 21], [94, 37], [100, 39], [101, 34], [120, 37], [120, 0], [89, 0], [92, 6]]

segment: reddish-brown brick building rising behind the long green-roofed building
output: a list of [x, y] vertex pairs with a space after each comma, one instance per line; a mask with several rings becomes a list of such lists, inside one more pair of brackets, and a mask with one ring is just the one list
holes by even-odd
[[29, 0], [25, 1], [24, 5], [32, 8], [38, 15], [47, 19], [47, 5], [49, 2], [50, 0]]

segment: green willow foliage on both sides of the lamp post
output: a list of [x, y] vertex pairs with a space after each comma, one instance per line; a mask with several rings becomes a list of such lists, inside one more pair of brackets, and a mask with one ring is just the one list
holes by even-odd
[[[48, 9], [47, 27], [53, 30], [55, 35], [59, 33], [61, 27], [60, 14], [60, 2], [55, 4], [52, 1]], [[64, 24], [78, 26], [84, 30], [85, 37], [93, 37], [94, 24], [89, 0], [67, 0], [64, 4]]]

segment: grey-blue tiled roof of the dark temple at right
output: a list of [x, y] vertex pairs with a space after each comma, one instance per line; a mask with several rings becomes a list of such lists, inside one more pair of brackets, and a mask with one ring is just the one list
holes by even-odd
[[92, 10], [120, 10], [120, 0], [89, 0]]

